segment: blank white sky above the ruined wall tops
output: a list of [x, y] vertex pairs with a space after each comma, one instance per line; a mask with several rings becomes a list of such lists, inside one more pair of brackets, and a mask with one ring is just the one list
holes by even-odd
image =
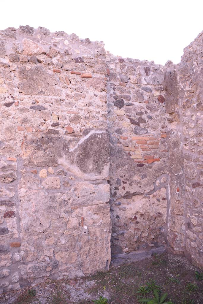
[[201, 0], [0, 0], [0, 29], [43, 26], [104, 41], [114, 55], [180, 62], [203, 30]]

